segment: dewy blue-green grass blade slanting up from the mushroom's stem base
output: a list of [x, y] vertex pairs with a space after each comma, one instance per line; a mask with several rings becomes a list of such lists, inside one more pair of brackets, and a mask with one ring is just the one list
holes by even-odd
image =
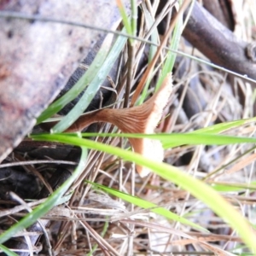
[[51, 132], [56, 133], [65, 131], [82, 113], [84, 113], [84, 110], [89, 106], [91, 100], [96, 96], [96, 92], [100, 89], [102, 82], [106, 79], [110, 69], [113, 67], [114, 61], [116, 61], [119, 53], [124, 48], [125, 43], [126, 38], [117, 38], [112, 49], [109, 51], [107, 58], [102, 64], [102, 67], [96, 74], [96, 77], [84, 91], [84, 95], [80, 98], [75, 107], [67, 113], [67, 116], [64, 119], [61, 119], [61, 121], [51, 129]]

